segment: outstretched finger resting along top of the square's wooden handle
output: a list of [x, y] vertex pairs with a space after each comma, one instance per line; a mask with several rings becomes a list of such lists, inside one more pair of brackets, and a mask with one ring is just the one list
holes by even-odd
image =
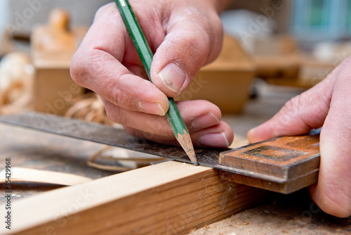
[[288, 101], [279, 112], [262, 125], [251, 129], [251, 143], [276, 136], [306, 134], [322, 127], [329, 112], [333, 84], [347, 60], [343, 61], [322, 82]]

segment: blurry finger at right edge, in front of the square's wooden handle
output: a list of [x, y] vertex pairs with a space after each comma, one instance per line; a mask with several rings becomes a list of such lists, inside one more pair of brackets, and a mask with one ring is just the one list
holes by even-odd
[[320, 136], [321, 163], [318, 184], [310, 187], [312, 199], [331, 215], [351, 215], [351, 67], [340, 72]]

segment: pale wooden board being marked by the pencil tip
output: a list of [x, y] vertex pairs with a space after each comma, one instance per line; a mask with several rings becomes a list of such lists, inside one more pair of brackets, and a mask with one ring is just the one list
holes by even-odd
[[167, 162], [56, 189], [13, 205], [1, 234], [185, 234], [267, 197], [217, 170]]

